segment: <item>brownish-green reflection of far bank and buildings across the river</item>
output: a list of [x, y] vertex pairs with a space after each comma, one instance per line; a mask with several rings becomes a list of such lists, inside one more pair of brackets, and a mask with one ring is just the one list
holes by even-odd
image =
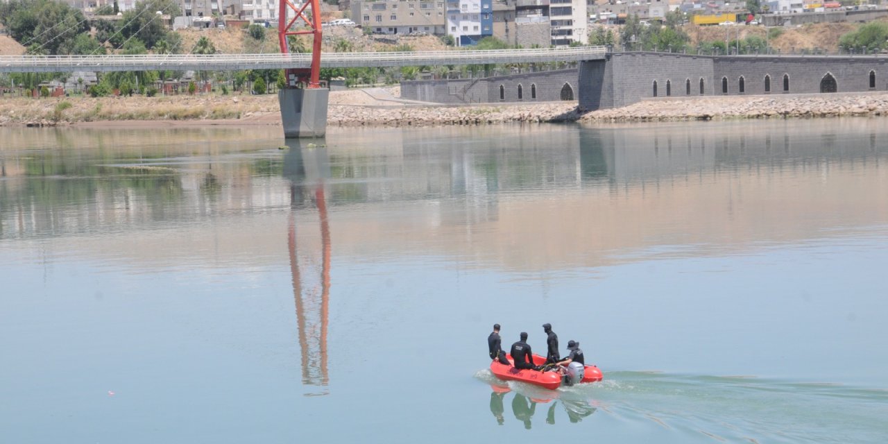
[[[7, 150], [0, 236], [88, 233], [78, 246], [86, 255], [115, 251], [141, 265], [183, 257], [209, 264], [228, 253], [270, 263], [281, 242], [253, 216], [274, 218], [291, 199], [313, 208], [310, 170], [329, 178], [325, 202], [360, 215], [336, 220], [341, 254], [366, 256], [387, 240], [389, 250], [419, 245], [517, 270], [609, 265], [619, 262], [613, 251], [658, 245], [734, 250], [749, 240], [818, 238], [825, 227], [888, 219], [884, 191], [874, 187], [884, 180], [879, 161], [888, 147], [884, 131], [865, 120], [514, 130], [354, 131], [358, 146], [337, 139], [329, 163], [310, 158], [318, 148], [296, 162], [285, 155], [282, 164], [274, 155], [219, 162], [209, 152], [195, 160], [194, 146], [170, 155], [145, 148], [133, 162], [146, 168], [125, 173], [117, 169], [130, 158], [120, 151], [97, 158]], [[385, 142], [366, 141], [375, 135]], [[194, 168], [204, 158], [213, 179], [209, 165]], [[281, 168], [285, 177], [299, 169], [304, 176], [294, 188], [277, 186]], [[199, 226], [210, 218], [216, 231]], [[239, 235], [250, 224], [253, 235]], [[300, 241], [305, 253], [305, 242], [318, 240]]]

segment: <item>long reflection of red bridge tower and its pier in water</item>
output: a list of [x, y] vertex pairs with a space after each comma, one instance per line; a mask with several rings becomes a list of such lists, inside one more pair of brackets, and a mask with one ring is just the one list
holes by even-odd
[[[290, 211], [287, 246], [290, 274], [296, 305], [299, 349], [302, 361], [302, 382], [325, 386], [329, 383], [327, 369], [327, 331], [329, 325], [330, 289], [330, 230], [324, 180], [329, 178], [327, 151], [323, 148], [303, 148], [299, 140], [288, 140], [289, 151], [284, 155], [283, 174], [290, 181]], [[321, 222], [320, 294], [306, 288], [305, 275], [300, 273], [297, 251], [296, 212], [305, 208], [306, 188], [313, 196]], [[309, 198], [310, 199], [310, 198]], [[320, 393], [327, 394], [326, 389]]]

